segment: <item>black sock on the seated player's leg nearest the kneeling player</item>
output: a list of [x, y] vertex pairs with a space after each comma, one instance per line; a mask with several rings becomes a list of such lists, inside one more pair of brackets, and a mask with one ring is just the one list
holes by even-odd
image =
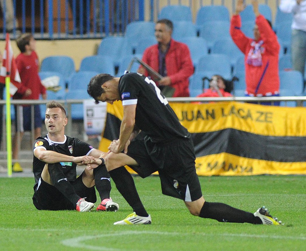
[[99, 165], [94, 169], [95, 187], [98, 190], [101, 201], [110, 197], [110, 174], [105, 165]]

